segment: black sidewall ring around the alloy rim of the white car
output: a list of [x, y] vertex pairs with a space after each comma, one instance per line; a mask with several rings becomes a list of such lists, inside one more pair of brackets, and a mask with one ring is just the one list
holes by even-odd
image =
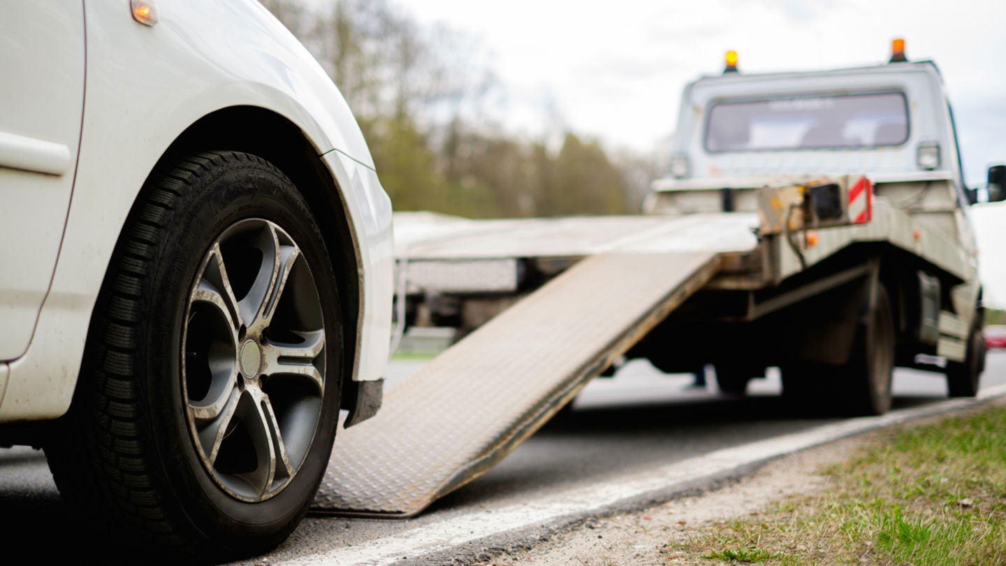
[[[224, 230], [247, 219], [276, 223], [300, 246], [312, 270], [325, 311], [326, 387], [312, 446], [291, 482], [258, 503], [223, 491], [204, 468], [190, 436], [181, 389], [181, 335], [191, 285], [211, 244]], [[255, 160], [229, 163], [200, 175], [178, 200], [152, 263], [151, 291], [141, 324], [138, 398], [157, 466], [173, 501], [207, 545], [271, 548], [307, 510], [324, 474], [339, 412], [341, 313], [331, 262], [320, 233], [296, 187], [278, 170]], [[170, 400], [170, 402], [165, 402]]]

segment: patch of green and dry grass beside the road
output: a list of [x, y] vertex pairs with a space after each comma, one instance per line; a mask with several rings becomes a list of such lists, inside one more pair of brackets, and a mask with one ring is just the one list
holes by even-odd
[[831, 487], [667, 546], [668, 564], [1006, 564], [1006, 408], [882, 433]]

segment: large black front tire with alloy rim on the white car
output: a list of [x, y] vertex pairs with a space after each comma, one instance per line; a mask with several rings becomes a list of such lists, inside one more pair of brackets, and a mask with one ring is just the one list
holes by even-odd
[[141, 191], [110, 262], [45, 444], [60, 493], [159, 559], [266, 552], [324, 474], [342, 356], [332, 263], [293, 183], [246, 153], [181, 160]]

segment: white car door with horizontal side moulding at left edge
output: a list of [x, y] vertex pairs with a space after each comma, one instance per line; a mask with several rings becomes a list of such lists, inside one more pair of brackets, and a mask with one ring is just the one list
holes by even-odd
[[83, 81], [82, 0], [0, 4], [0, 361], [27, 349], [55, 268]]

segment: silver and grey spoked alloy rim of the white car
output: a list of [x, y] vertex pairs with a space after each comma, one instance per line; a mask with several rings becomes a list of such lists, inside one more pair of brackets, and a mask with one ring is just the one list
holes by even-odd
[[321, 418], [325, 327], [304, 254], [267, 220], [213, 242], [188, 295], [182, 395], [196, 452], [213, 480], [246, 502], [297, 474]]

